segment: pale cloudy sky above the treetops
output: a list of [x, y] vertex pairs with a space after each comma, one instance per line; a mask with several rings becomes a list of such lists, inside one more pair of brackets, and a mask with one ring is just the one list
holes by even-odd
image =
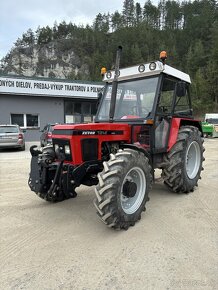
[[[2, 0], [0, 17], [0, 60], [13, 47], [14, 43], [29, 28], [54, 22], [70, 21], [76, 25], [92, 24], [98, 13], [119, 12], [123, 8], [123, 0]], [[146, 0], [134, 3], [144, 6]], [[157, 2], [152, 1], [153, 4]]]

